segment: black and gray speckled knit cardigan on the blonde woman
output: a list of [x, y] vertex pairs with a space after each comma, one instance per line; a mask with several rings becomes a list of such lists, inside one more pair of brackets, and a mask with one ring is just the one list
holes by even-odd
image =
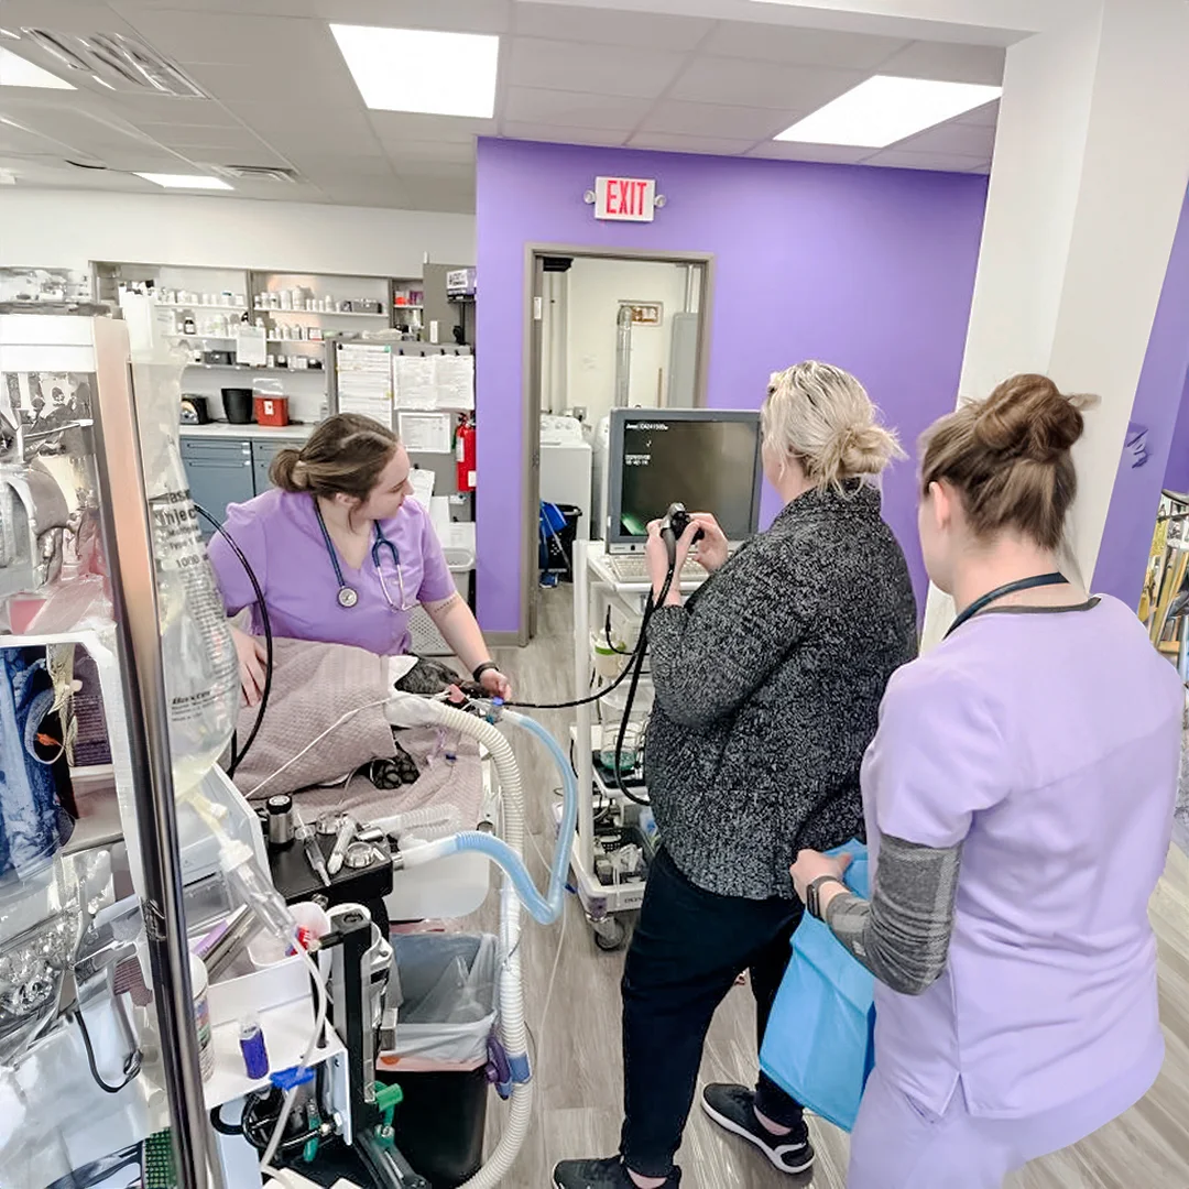
[[794, 499], [685, 606], [656, 611], [649, 647], [644, 774], [673, 861], [709, 892], [793, 899], [798, 843], [862, 837], [863, 751], [917, 654], [879, 492]]

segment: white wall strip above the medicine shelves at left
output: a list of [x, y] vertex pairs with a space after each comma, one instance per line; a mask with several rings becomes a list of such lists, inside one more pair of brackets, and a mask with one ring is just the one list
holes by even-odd
[[90, 260], [419, 277], [474, 259], [474, 216], [182, 194], [0, 187], [0, 265]]

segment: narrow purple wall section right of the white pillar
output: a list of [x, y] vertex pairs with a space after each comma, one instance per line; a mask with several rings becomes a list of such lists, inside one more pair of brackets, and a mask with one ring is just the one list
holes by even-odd
[[[1140, 465], [1133, 451], [1125, 448], [1111, 496], [1111, 510], [1102, 531], [1102, 546], [1094, 567], [1093, 589], [1114, 594], [1128, 606], [1139, 605], [1144, 568], [1152, 547], [1156, 509], [1165, 468], [1179, 465], [1181, 482], [1189, 483], [1189, 427], [1182, 410], [1182, 394], [1189, 372], [1189, 197], [1181, 210], [1181, 224], [1172, 243], [1164, 289], [1152, 323], [1144, 370], [1135, 390], [1132, 429], [1128, 438], [1143, 434], [1146, 458]], [[1176, 433], [1175, 433], [1176, 430]], [[1179, 436], [1178, 455], [1174, 457]], [[1184, 490], [1178, 487], [1178, 490]]]

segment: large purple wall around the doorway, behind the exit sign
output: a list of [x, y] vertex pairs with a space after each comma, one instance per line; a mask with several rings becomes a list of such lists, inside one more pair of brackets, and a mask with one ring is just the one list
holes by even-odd
[[[652, 224], [599, 224], [598, 175], [655, 177]], [[757, 408], [768, 376], [853, 371], [910, 451], [957, 394], [987, 180], [963, 174], [480, 140], [477, 394], [479, 618], [520, 627], [524, 245], [712, 252], [709, 403]], [[911, 461], [885, 515], [924, 604]], [[767, 510], [772, 511], [769, 496]]]

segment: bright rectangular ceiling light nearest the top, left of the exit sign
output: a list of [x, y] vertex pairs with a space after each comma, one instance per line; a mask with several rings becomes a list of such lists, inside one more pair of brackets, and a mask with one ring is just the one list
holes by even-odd
[[498, 37], [369, 25], [331, 25], [331, 32], [370, 108], [495, 114]]

